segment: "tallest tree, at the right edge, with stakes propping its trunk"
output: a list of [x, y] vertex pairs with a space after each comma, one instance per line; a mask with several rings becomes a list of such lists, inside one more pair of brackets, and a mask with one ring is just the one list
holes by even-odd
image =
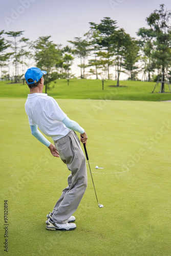
[[160, 67], [162, 72], [161, 93], [164, 93], [165, 71], [170, 67], [171, 63], [170, 17], [171, 12], [165, 11], [164, 5], [162, 4], [159, 10], [155, 10], [146, 18], [147, 24], [151, 27], [155, 35], [153, 58], [156, 61], [156, 66]]

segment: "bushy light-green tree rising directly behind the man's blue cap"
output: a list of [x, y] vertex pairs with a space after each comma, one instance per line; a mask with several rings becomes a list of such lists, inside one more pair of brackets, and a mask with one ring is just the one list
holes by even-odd
[[51, 81], [58, 78], [58, 73], [54, 72], [56, 62], [59, 58], [57, 45], [50, 41], [51, 36], [40, 36], [35, 41], [35, 60], [37, 68], [47, 71], [45, 79], [45, 91], [49, 88]]

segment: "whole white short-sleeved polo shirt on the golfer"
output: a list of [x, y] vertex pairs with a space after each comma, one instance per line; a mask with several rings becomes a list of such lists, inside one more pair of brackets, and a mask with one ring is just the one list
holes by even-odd
[[57, 102], [45, 93], [28, 94], [25, 109], [29, 124], [37, 124], [40, 131], [53, 140], [58, 140], [71, 131], [62, 123], [67, 115], [59, 108]]

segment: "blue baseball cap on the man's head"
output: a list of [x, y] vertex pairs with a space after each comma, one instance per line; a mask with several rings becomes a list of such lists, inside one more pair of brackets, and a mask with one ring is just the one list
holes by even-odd
[[[33, 67], [26, 71], [25, 78], [28, 84], [32, 84], [32, 83], [38, 82], [42, 77], [42, 75], [45, 75], [45, 74], [47, 74], [46, 71], [41, 71], [40, 69]], [[28, 81], [28, 79], [30, 78], [33, 79], [33, 82]]]

